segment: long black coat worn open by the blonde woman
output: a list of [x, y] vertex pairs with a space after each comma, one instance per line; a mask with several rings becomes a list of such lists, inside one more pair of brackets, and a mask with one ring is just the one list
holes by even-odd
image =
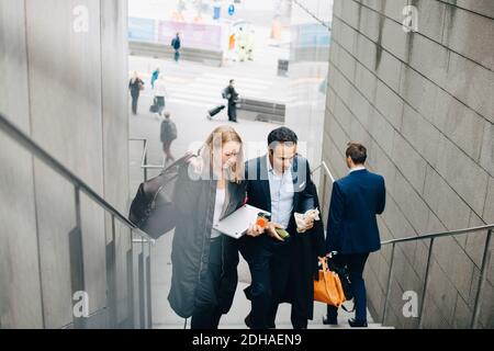
[[[168, 295], [171, 308], [182, 318], [192, 316], [198, 283], [207, 270], [216, 194], [216, 180], [211, 177], [193, 180], [188, 169], [188, 165], [180, 169], [176, 188], [178, 218], [172, 240], [172, 276]], [[240, 207], [245, 199], [245, 183], [227, 181], [226, 184], [226, 207], [222, 216]], [[223, 314], [232, 306], [238, 281], [238, 253], [234, 241], [226, 236], [223, 240], [222, 278], [220, 295], [216, 296]]]

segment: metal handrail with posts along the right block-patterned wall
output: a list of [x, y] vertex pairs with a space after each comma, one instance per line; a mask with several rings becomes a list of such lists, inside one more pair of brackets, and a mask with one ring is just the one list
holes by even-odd
[[[327, 165], [324, 161], [317, 168], [315, 168], [313, 172], [315, 172], [318, 169], [323, 169], [326, 172], [326, 174], [330, 178], [332, 183], [335, 182], [335, 178], [333, 177], [332, 172], [329, 171]], [[325, 184], [323, 184], [323, 186], [325, 186]], [[325, 192], [324, 192], [324, 194], [325, 194]], [[395, 252], [395, 247], [396, 247], [397, 244], [418, 241], [418, 240], [430, 240], [428, 254], [427, 254], [427, 265], [426, 265], [426, 272], [425, 272], [424, 287], [423, 287], [423, 292], [422, 292], [423, 294], [422, 294], [422, 302], [420, 302], [420, 313], [419, 313], [419, 316], [418, 316], [419, 317], [419, 319], [418, 319], [418, 327], [422, 328], [423, 327], [423, 321], [424, 321], [423, 316], [424, 316], [424, 309], [425, 309], [425, 297], [426, 297], [427, 287], [428, 287], [428, 284], [429, 284], [429, 273], [430, 273], [433, 247], [434, 247], [435, 240], [437, 238], [441, 238], [441, 237], [452, 237], [452, 236], [462, 235], [462, 234], [471, 235], [471, 234], [479, 233], [479, 231], [484, 231], [484, 230], [487, 234], [487, 236], [485, 238], [484, 252], [483, 252], [483, 256], [482, 256], [481, 272], [480, 272], [480, 278], [479, 278], [479, 283], [478, 283], [478, 288], [476, 288], [476, 295], [475, 295], [475, 302], [474, 302], [474, 307], [473, 307], [472, 319], [471, 319], [471, 322], [470, 322], [470, 327], [472, 329], [475, 328], [478, 326], [478, 324], [479, 324], [480, 301], [481, 301], [483, 287], [484, 287], [484, 284], [485, 284], [485, 281], [486, 281], [486, 275], [487, 275], [485, 271], [486, 271], [489, 261], [491, 259], [490, 247], [491, 247], [492, 235], [494, 233], [494, 224], [479, 226], [479, 227], [471, 227], [471, 228], [464, 228], [464, 229], [457, 229], [457, 230], [449, 230], [449, 231], [441, 231], [441, 233], [425, 234], [425, 235], [420, 235], [420, 236], [405, 237], [405, 238], [398, 238], [398, 239], [381, 241], [382, 246], [392, 245], [390, 270], [388, 272], [386, 295], [385, 295], [385, 298], [384, 298], [384, 306], [383, 306], [383, 312], [382, 312], [382, 324], [384, 324], [384, 321], [385, 321], [386, 312], [388, 312], [388, 301], [389, 301], [390, 295], [391, 295], [391, 280], [393, 278], [393, 271], [394, 271], [393, 270], [393, 268], [394, 268], [394, 252]]]

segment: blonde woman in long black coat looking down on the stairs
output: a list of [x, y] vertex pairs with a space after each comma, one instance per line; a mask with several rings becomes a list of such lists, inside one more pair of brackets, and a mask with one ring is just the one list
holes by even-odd
[[179, 171], [168, 301], [179, 316], [192, 317], [192, 329], [216, 329], [232, 306], [237, 244], [213, 224], [243, 205], [243, 141], [231, 126], [215, 128]]

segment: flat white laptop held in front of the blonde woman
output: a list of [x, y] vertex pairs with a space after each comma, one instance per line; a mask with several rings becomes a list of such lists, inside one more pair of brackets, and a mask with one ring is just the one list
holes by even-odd
[[240, 238], [247, 233], [247, 229], [251, 224], [255, 224], [259, 213], [271, 215], [263, 210], [244, 205], [237, 211], [221, 219], [217, 224], [213, 225], [213, 228], [235, 239]]

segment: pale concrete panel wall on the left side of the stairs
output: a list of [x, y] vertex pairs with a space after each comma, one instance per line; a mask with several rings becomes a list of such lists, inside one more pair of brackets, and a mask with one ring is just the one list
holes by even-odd
[[[88, 10], [88, 32], [75, 30], [78, 5]], [[7, 92], [0, 112], [125, 212], [126, 1], [0, 0], [0, 73], [7, 78], [0, 81]], [[72, 321], [74, 188], [4, 135], [0, 162], [1, 327], [67, 326]], [[89, 325], [103, 326], [111, 223], [83, 195], [81, 226], [86, 291], [96, 316]], [[124, 260], [128, 234], [117, 228], [117, 259]], [[119, 296], [123, 305], [125, 299]]]

